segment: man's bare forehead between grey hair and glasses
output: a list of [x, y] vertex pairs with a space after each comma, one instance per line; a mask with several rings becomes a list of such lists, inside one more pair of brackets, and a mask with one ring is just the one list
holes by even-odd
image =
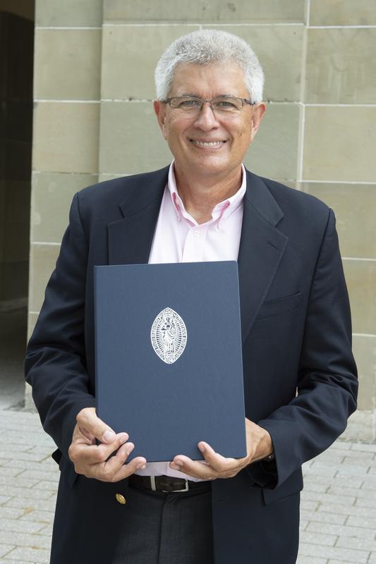
[[238, 65], [180, 63], [176, 66], [169, 96], [180, 96], [181, 94], [205, 97], [232, 94], [247, 97], [248, 91], [244, 83], [243, 69]]

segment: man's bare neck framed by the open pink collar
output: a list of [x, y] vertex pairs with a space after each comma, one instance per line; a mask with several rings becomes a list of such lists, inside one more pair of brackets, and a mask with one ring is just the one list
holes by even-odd
[[241, 187], [241, 166], [238, 166], [226, 176], [217, 177], [207, 175], [196, 176], [195, 173], [185, 173], [174, 163], [174, 173], [178, 195], [184, 207], [198, 223], [205, 223], [212, 219], [214, 207], [227, 198], [234, 196]]

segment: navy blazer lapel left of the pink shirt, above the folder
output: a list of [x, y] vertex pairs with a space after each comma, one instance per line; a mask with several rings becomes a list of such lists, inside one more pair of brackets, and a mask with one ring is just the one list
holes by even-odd
[[143, 264], [149, 260], [169, 167], [135, 177], [128, 199], [120, 204], [123, 219], [109, 223], [109, 264]]

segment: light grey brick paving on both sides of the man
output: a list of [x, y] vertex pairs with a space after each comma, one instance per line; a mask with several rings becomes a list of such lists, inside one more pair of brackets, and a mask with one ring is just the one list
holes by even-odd
[[[0, 354], [0, 563], [40, 564], [49, 562], [59, 469], [38, 415], [20, 409], [19, 351], [4, 346], [6, 362]], [[298, 564], [376, 564], [376, 444], [336, 441], [303, 472]]]

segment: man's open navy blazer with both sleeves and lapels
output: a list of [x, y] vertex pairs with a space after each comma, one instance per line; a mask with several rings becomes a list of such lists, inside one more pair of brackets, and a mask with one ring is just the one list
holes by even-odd
[[[58, 450], [51, 563], [111, 562], [126, 534], [128, 480], [75, 474], [75, 417], [95, 406], [93, 266], [147, 263], [168, 167], [109, 180], [73, 198], [56, 269], [28, 344], [26, 379]], [[216, 564], [293, 564], [301, 465], [356, 409], [351, 317], [334, 214], [317, 198], [247, 171], [238, 255], [245, 415], [272, 436], [276, 461], [212, 482]], [[102, 539], [101, 542], [98, 539]], [[83, 546], [84, 544], [84, 546]]]

